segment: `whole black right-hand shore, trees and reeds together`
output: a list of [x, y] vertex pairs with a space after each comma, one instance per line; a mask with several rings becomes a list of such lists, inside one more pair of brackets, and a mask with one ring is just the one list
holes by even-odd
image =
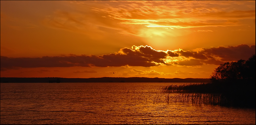
[[163, 92], [177, 93], [168, 101], [255, 108], [255, 54], [248, 60], [225, 62], [212, 73], [210, 83], [169, 85]]

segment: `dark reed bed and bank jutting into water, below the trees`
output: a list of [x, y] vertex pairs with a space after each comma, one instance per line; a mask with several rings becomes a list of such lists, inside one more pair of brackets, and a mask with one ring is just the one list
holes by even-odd
[[255, 84], [247, 82], [169, 85], [162, 92], [172, 93], [169, 102], [174, 103], [255, 108]]

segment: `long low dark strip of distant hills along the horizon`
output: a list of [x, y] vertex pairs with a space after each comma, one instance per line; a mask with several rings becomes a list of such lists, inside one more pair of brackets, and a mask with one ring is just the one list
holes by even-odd
[[147, 77], [101, 77], [101, 78], [17, 78], [1, 77], [1, 83], [72, 83], [72, 82], [186, 82], [186, 83], [208, 83], [209, 78], [147, 78]]

